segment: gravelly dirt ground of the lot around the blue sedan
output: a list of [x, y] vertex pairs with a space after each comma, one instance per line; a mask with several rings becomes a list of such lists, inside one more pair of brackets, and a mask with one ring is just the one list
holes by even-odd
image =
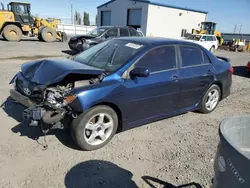
[[232, 60], [235, 75], [231, 95], [213, 113], [189, 112], [129, 130], [93, 152], [78, 150], [66, 132], [55, 131], [44, 150], [44, 137], [21, 122], [23, 108], [8, 99], [8, 83], [28, 60], [66, 56], [67, 43], [0, 41], [0, 49], [0, 187], [208, 187], [220, 122], [250, 113], [250, 78], [243, 67], [250, 53], [217, 51]]

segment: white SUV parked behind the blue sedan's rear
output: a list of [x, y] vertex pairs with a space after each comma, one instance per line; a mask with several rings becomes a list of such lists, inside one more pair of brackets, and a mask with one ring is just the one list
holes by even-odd
[[203, 46], [212, 53], [218, 48], [219, 45], [215, 35], [195, 34], [189, 35], [185, 39]]

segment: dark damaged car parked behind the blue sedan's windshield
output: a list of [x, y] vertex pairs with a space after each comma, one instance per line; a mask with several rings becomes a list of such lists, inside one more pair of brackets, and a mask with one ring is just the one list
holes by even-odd
[[103, 41], [129, 36], [144, 36], [141, 31], [132, 27], [103, 26], [88, 32], [86, 35], [76, 35], [70, 38], [69, 48], [76, 52], [82, 52]]

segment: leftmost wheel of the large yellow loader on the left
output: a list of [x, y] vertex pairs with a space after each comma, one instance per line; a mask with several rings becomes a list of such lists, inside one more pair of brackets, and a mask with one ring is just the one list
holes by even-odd
[[16, 25], [7, 25], [3, 29], [3, 37], [7, 41], [19, 42], [22, 39], [22, 30]]

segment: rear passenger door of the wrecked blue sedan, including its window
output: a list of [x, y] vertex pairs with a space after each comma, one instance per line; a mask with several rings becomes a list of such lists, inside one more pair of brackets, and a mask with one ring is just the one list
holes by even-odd
[[193, 108], [214, 80], [215, 70], [205, 52], [195, 46], [180, 45], [180, 108]]

